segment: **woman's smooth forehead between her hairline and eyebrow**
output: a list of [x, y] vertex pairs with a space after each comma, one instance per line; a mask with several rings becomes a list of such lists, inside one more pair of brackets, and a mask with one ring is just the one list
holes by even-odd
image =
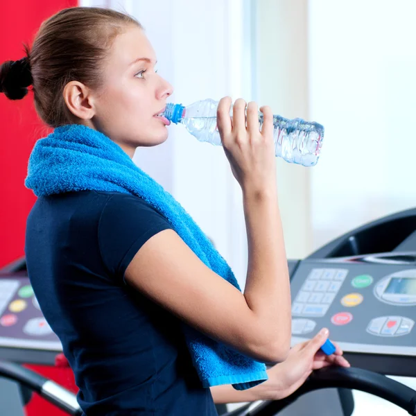
[[156, 54], [144, 31], [137, 26], [129, 26], [115, 37], [109, 58], [127, 67], [137, 58], [155, 61]]

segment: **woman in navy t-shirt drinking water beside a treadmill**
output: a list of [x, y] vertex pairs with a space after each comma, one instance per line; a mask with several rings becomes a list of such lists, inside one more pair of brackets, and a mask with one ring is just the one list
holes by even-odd
[[[39, 198], [28, 216], [25, 251], [83, 411], [211, 416], [214, 403], [281, 399], [313, 369], [349, 366], [338, 347], [333, 356], [319, 352], [327, 329], [290, 349], [269, 107], [261, 108], [260, 132], [256, 103], [247, 105], [247, 126], [242, 99], [232, 120], [231, 99], [218, 106], [225, 155], [243, 191], [244, 293], [225, 279], [231, 270], [177, 202], [133, 166], [138, 146], [168, 137], [166, 119], [157, 114], [173, 88], [155, 63], [132, 17], [69, 8], [44, 21], [24, 58], [0, 69], [0, 91], [20, 99], [33, 85], [37, 113], [55, 128], [37, 141], [29, 161], [26, 187]], [[203, 387], [182, 324], [241, 357], [277, 364], [252, 388]]]

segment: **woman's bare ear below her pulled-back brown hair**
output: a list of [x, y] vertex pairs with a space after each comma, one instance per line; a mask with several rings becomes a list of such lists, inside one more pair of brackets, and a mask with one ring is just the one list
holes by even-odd
[[64, 101], [69, 111], [82, 120], [92, 119], [94, 105], [92, 94], [88, 87], [78, 81], [70, 81], [64, 87]]

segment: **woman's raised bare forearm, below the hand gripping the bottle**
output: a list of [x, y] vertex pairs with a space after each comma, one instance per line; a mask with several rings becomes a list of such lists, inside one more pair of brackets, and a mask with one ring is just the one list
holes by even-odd
[[244, 296], [262, 326], [288, 351], [291, 290], [277, 191], [244, 194], [248, 235], [248, 275]]

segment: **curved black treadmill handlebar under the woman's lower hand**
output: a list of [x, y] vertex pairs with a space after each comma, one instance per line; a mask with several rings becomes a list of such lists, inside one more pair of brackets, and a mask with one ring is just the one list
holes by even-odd
[[284, 399], [246, 404], [223, 416], [275, 416], [298, 397], [322, 388], [361, 390], [396, 404], [410, 415], [416, 415], [416, 392], [406, 385], [361, 368], [324, 367], [315, 370], [298, 390]]

